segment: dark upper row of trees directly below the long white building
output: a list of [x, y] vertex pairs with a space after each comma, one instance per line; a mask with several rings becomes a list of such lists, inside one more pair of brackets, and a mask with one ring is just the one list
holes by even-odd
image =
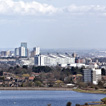
[[[45, 73], [45, 75], [51, 75], [54, 76], [54, 78], [58, 80], [63, 80], [65, 77], [68, 77], [70, 75], [77, 75], [77, 74], [83, 74], [83, 68], [78, 67], [72, 67], [72, 68], [62, 68], [60, 66], [55, 67], [48, 67], [48, 66], [14, 66], [14, 67], [1, 67], [0, 69], [0, 76], [2, 76], [3, 72], [9, 72], [12, 74], [15, 74], [17, 76], [22, 76], [23, 74], [29, 74], [29, 76], [34, 73]], [[46, 74], [47, 73], [47, 74]]]

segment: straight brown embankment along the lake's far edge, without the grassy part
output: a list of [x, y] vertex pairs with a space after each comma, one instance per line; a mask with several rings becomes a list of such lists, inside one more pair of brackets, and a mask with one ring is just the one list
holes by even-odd
[[71, 88], [45, 88], [45, 87], [0, 87], [0, 90], [73, 91]]

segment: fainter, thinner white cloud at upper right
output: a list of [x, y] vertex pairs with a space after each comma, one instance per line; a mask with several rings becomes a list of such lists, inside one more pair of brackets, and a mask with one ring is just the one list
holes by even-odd
[[97, 14], [103, 15], [106, 14], [106, 6], [100, 5], [70, 5], [68, 7], [63, 8], [63, 11], [66, 11], [71, 14]]

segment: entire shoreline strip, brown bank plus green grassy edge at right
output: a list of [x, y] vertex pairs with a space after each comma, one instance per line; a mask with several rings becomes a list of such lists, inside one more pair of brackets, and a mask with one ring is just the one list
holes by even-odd
[[35, 90], [35, 91], [75, 91], [80, 93], [106, 94], [106, 90], [83, 90], [72, 88], [54, 88], [54, 87], [0, 87], [0, 90]]

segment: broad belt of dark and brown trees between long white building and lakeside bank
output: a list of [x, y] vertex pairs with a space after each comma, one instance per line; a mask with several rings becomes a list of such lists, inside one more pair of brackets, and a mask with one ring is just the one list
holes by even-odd
[[[62, 68], [60, 66], [48, 67], [48, 66], [14, 66], [14, 67], [1, 67], [0, 76], [3, 76], [3, 72], [11, 73], [11, 77], [15, 79], [22, 79], [18, 86], [49, 86], [49, 87], [62, 87], [67, 83], [76, 83], [82, 81], [83, 68]], [[80, 76], [74, 76], [80, 74]], [[30, 81], [29, 77], [35, 78]], [[3, 78], [6, 79], [6, 76]], [[4, 82], [4, 80], [2, 79]], [[18, 80], [19, 81], [19, 80]], [[11, 81], [10, 81], [11, 82]]]

